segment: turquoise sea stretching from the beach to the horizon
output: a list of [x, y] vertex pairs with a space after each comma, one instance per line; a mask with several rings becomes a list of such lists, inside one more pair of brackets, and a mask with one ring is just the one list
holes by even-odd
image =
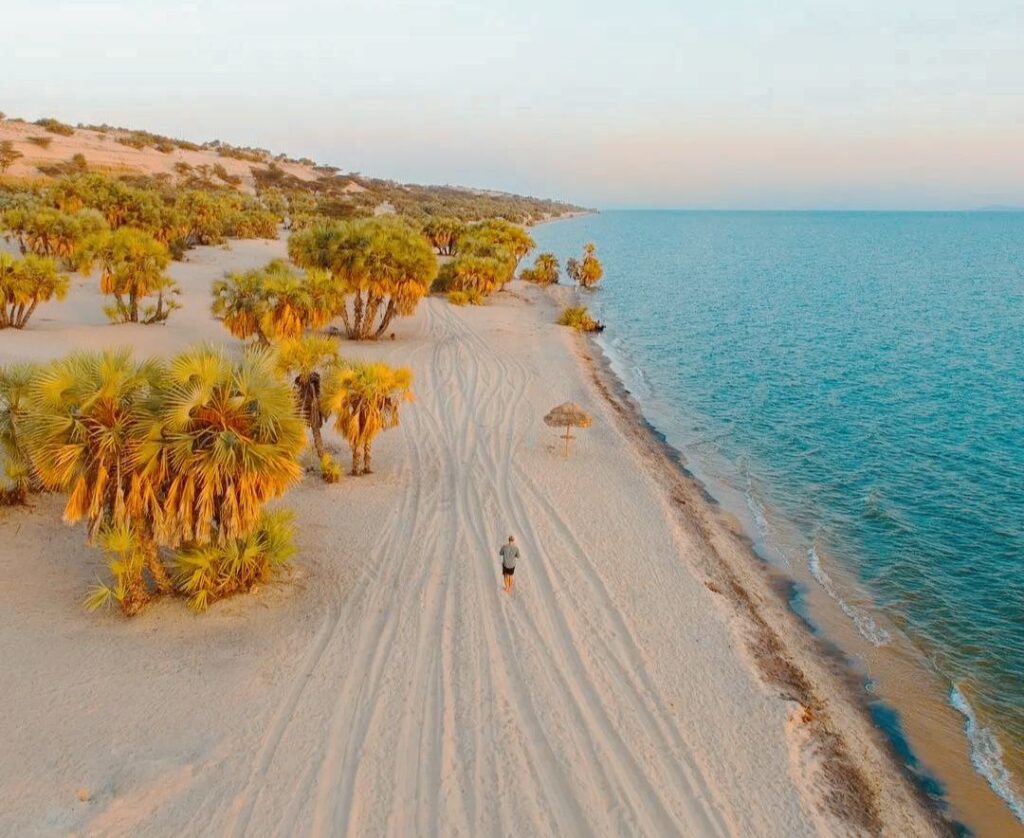
[[745, 497], [757, 540], [785, 522], [783, 561], [867, 640], [909, 638], [1024, 820], [1024, 214], [605, 212], [532, 235], [563, 263], [597, 243], [584, 295], [648, 419]]

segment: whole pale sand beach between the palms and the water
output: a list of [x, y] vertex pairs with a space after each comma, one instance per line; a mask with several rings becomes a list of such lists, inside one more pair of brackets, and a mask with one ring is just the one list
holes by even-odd
[[[189, 252], [166, 326], [106, 325], [76, 278], [0, 332], [0, 364], [240, 347], [210, 282], [284, 252]], [[411, 366], [415, 404], [375, 474], [310, 473], [280, 502], [291, 575], [206, 614], [89, 614], [99, 555], [62, 499], [0, 511], [0, 834], [940, 833], [842, 671], [555, 311], [536, 288], [428, 298], [395, 340], [344, 342]], [[569, 400], [594, 423], [566, 459], [541, 418]]]

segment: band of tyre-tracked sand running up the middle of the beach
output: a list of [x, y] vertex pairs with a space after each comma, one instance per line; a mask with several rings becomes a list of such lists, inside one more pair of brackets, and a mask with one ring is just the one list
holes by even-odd
[[[228, 832], [728, 833], [748, 818], [695, 762], [566, 499], [524, 462], [552, 457], [526, 407], [546, 382], [474, 313], [425, 306], [406, 489], [273, 710]], [[525, 556], [511, 598], [505, 530]]]

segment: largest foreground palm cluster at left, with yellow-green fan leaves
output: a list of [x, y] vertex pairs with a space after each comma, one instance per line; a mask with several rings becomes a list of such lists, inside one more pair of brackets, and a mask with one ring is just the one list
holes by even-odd
[[303, 420], [267, 351], [105, 350], [0, 370], [0, 443], [8, 499], [65, 493], [65, 520], [86, 521], [109, 554], [92, 607], [130, 616], [177, 591], [202, 609], [288, 556], [287, 521], [264, 506], [301, 475]]

